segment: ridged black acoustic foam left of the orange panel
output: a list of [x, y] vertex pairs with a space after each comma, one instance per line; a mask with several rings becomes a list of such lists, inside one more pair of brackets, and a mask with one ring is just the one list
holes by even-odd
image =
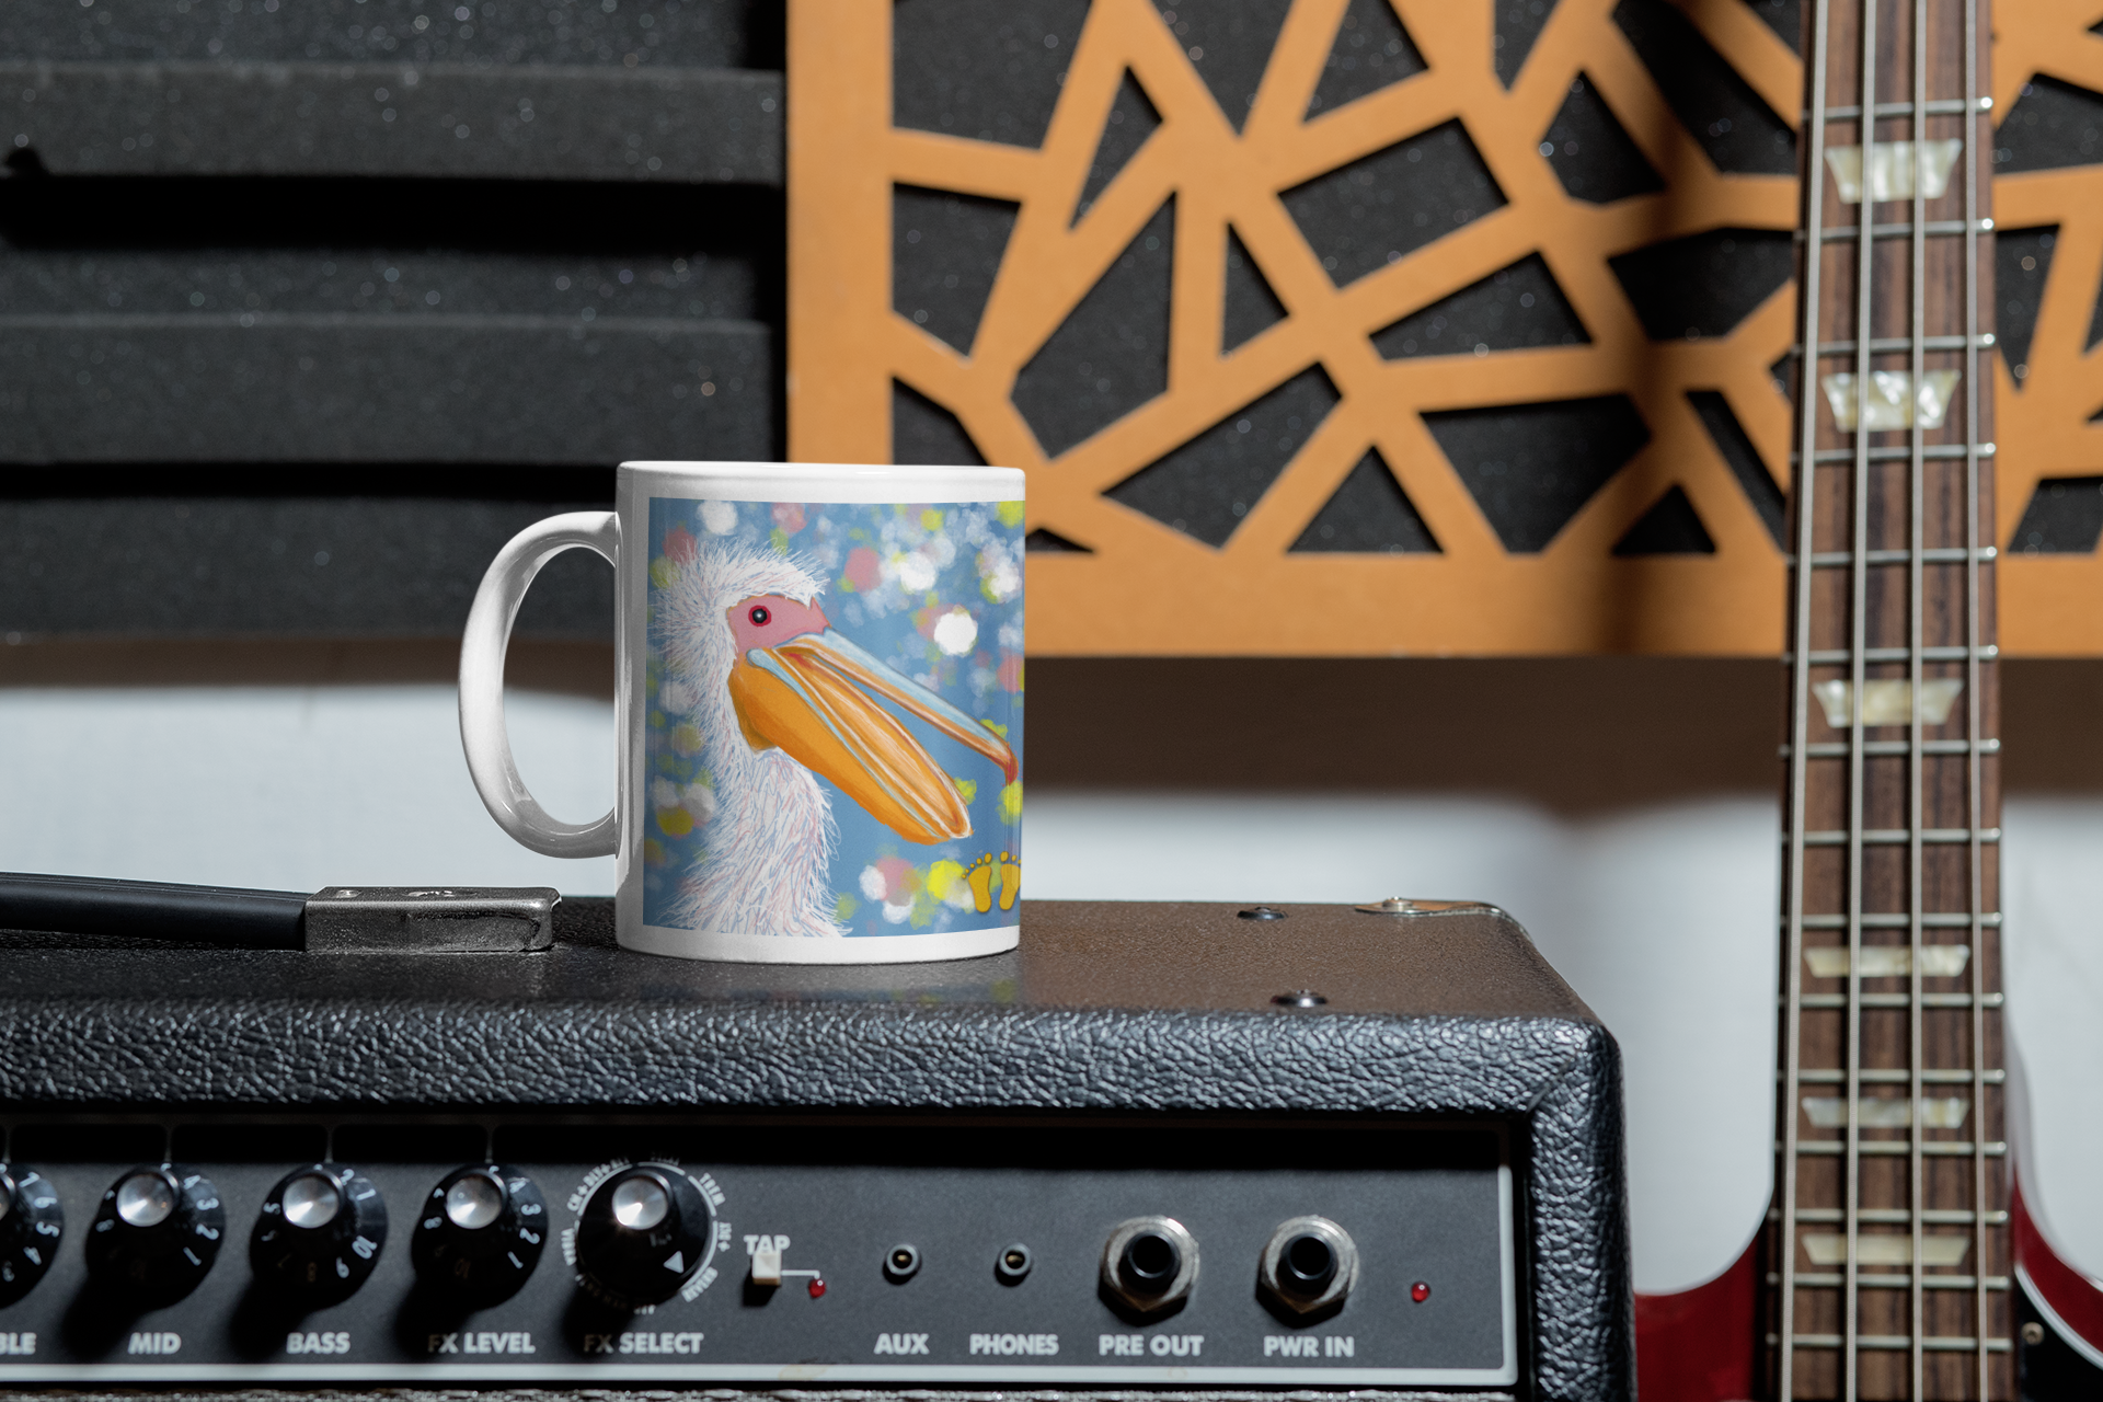
[[0, 13], [0, 628], [458, 633], [620, 458], [778, 456], [780, 67], [757, 0]]

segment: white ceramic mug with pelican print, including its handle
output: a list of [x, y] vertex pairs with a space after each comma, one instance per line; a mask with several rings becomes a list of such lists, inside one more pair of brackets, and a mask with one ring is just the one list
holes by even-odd
[[[755, 963], [1016, 946], [1022, 473], [622, 462], [614, 511], [519, 532], [461, 645], [461, 742], [490, 816], [618, 858], [625, 948]], [[614, 807], [551, 818], [505, 736], [511, 622], [570, 549], [616, 570]]]

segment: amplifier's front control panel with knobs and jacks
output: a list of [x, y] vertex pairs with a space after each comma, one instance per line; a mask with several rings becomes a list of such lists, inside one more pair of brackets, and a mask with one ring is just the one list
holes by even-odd
[[1510, 1387], [1504, 1125], [8, 1127], [0, 1385]]

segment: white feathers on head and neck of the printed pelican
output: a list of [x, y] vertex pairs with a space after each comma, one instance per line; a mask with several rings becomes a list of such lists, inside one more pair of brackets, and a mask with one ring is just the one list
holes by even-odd
[[665, 919], [679, 929], [742, 935], [839, 937], [826, 872], [839, 828], [810, 769], [780, 750], [755, 750], [730, 704], [738, 660], [730, 605], [753, 595], [812, 603], [824, 586], [795, 557], [738, 540], [702, 538], [671, 561], [654, 631], [669, 679], [694, 698], [694, 725], [715, 780], [707, 851], [681, 874]]

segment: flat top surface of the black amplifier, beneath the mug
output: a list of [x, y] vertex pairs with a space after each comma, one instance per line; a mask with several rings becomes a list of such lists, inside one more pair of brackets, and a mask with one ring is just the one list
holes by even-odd
[[0, 933], [19, 1001], [263, 1005], [568, 1005], [749, 1009], [755, 1003], [988, 1005], [1272, 1013], [1308, 990], [1323, 1013], [1592, 1019], [1502, 910], [1371, 914], [1354, 906], [1024, 902], [1022, 948], [915, 965], [738, 965], [614, 946], [612, 902], [570, 898], [538, 954], [305, 954], [147, 940]]

